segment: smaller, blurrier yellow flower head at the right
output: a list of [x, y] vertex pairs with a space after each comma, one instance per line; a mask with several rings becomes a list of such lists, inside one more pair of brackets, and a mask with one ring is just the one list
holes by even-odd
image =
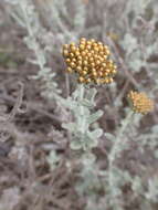
[[127, 97], [136, 113], [147, 114], [154, 109], [154, 102], [145, 93], [130, 91]]

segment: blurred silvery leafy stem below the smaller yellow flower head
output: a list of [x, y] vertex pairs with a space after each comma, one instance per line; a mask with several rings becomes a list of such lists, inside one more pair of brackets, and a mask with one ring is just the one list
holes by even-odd
[[120, 158], [122, 151], [127, 149], [128, 137], [125, 133], [128, 132], [128, 126], [134, 116], [134, 112], [130, 111], [127, 117], [122, 120], [120, 128], [116, 133], [116, 137], [109, 135], [108, 133], [105, 136], [112, 140], [113, 145], [108, 154], [108, 170], [107, 170], [107, 187], [108, 191], [107, 200], [109, 206], [114, 210], [122, 210], [122, 187], [126, 182], [130, 182], [131, 178], [127, 171], [122, 171], [117, 166], [115, 166], [115, 160]]

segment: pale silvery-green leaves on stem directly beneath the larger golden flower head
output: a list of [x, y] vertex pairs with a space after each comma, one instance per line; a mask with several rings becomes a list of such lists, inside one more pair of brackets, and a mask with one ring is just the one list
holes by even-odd
[[72, 134], [72, 149], [91, 150], [97, 146], [98, 138], [103, 134], [101, 128], [91, 130], [91, 125], [103, 115], [102, 111], [92, 114], [95, 95], [95, 88], [85, 90], [83, 85], [78, 85], [73, 96], [63, 102], [74, 115], [74, 122], [63, 124], [63, 127]]

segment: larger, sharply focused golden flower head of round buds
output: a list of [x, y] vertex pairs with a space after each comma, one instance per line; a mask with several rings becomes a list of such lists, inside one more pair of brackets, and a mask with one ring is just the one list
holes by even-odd
[[76, 73], [80, 83], [107, 84], [116, 74], [116, 65], [109, 60], [109, 49], [94, 39], [82, 38], [80, 43], [64, 44], [63, 56], [69, 73]]

